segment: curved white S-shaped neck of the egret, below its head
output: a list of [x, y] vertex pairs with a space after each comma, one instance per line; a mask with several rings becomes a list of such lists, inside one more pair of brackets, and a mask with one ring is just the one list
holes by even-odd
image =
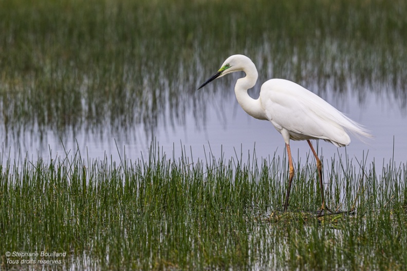
[[247, 90], [252, 88], [257, 81], [257, 71], [256, 68], [246, 71], [246, 76], [244, 78], [238, 79], [235, 85], [236, 99], [239, 105], [253, 118], [259, 120], [267, 120], [265, 111], [261, 104], [260, 98], [253, 99], [247, 93]]

